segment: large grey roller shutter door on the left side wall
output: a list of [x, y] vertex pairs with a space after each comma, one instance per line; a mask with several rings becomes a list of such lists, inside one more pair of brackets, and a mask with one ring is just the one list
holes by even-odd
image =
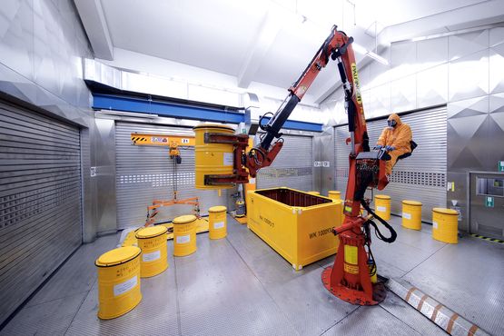
[[82, 242], [79, 129], [0, 102], [0, 322]]

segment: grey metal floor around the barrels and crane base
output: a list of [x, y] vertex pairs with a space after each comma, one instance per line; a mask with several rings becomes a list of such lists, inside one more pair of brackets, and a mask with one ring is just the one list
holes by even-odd
[[[392, 244], [373, 241], [379, 273], [411, 282], [494, 335], [504, 334], [504, 245], [472, 237], [457, 245], [400, 227]], [[94, 260], [119, 235], [82, 246], [25, 304], [1, 335], [437, 335], [435, 324], [389, 292], [375, 307], [340, 301], [321, 284], [333, 257], [294, 272], [246, 225], [228, 218], [228, 237], [198, 235], [198, 252], [173, 258], [142, 280], [143, 301], [124, 316], [96, 317]]]

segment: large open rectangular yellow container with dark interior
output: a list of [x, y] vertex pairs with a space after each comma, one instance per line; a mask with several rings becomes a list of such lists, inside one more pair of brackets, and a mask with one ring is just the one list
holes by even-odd
[[301, 270], [338, 249], [333, 227], [341, 226], [341, 203], [289, 188], [249, 192], [248, 226]]

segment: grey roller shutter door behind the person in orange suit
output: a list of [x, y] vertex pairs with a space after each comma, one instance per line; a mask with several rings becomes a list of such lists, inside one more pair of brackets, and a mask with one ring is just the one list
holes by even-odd
[[[391, 212], [401, 214], [402, 200], [415, 200], [423, 204], [422, 221], [431, 222], [431, 209], [446, 206], [447, 136], [446, 108], [440, 107], [401, 117], [410, 124], [413, 139], [419, 144], [415, 152], [394, 167], [391, 182], [383, 192], [392, 198]], [[371, 146], [376, 143], [385, 119], [369, 122]], [[335, 128], [335, 180], [336, 187], [344, 193], [348, 180], [348, 155], [350, 146], [345, 144], [347, 126]], [[366, 193], [372, 197], [371, 193]]]

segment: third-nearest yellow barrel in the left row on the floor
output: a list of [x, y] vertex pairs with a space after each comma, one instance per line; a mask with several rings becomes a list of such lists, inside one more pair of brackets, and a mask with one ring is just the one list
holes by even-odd
[[196, 252], [196, 216], [186, 214], [173, 220], [173, 255], [183, 257]]

